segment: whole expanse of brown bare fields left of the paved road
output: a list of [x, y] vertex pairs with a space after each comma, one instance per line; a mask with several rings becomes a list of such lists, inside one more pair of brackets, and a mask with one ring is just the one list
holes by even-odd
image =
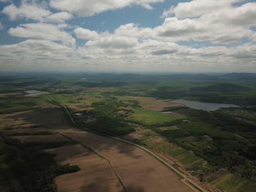
[[[128, 191], [135, 192], [191, 192], [180, 178], [155, 158], [138, 147], [128, 145], [107, 137], [101, 137], [75, 128], [70, 128], [64, 118], [61, 108], [45, 108], [42, 110], [18, 112], [10, 115], [0, 115], [0, 119], [23, 121], [24, 125], [43, 127], [45, 130], [59, 131], [91, 147], [97, 153], [108, 158], [117, 174], [127, 186]], [[40, 129], [41, 129], [40, 128]], [[19, 129], [18, 129], [19, 130]], [[58, 138], [57, 138], [57, 137]], [[67, 139], [60, 135], [34, 135], [16, 137], [23, 140], [43, 142], [53, 139]], [[90, 153], [81, 145], [69, 145], [48, 150], [56, 153], [56, 161], [61, 164], [78, 164], [80, 172], [64, 174], [56, 178], [59, 191], [121, 191], [110, 165], [94, 153]]]

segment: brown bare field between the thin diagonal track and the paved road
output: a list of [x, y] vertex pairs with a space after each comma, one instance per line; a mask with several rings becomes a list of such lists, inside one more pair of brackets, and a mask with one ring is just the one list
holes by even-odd
[[78, 129], [58, 131], [110, 159], [128, 191], [192, 191], [170, 169], [138, 147]]

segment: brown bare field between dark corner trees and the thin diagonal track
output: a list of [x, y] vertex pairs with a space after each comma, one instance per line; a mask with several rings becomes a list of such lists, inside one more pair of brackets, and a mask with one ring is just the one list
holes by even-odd
[[81, 145], [56, 147], [46, 152], [56, 154], [56, 161], [59, 164], [76, 164], [81, 169], [79, 172], [56, 177], [59, 192], [118, 192], [122, 190], [108, 161], [99, 158]]

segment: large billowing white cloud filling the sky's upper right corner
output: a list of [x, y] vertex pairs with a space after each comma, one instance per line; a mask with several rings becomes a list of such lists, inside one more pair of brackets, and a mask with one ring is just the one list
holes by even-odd
[[213, 43], [233, 43], [246, 37], [253, 39], [255, 31], [248, 26], [256, 25], [256, 3], [233, 7], [238, 0], [193, 0], [178, 3], [163, 13], [175, 15], [165, 18], [162, 26], [157, 27], [160, 37], [170, 39], [193, 39]]

